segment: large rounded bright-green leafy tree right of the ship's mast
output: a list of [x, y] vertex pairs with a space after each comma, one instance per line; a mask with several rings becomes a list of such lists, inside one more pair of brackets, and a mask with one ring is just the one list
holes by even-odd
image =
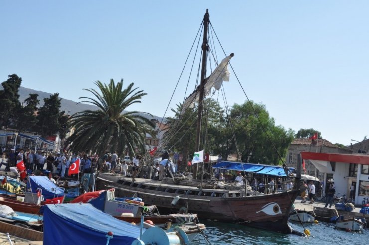
[[[264, 105], [254, 102], [235, 104], [231, 110], [231, 120], [242, 161], [264, 164], [283, 162], [279, 156], [284, 156], [292, 142], [293, 131], [276, 126]], [[235, 144], [232, 150], [237, 153]]]

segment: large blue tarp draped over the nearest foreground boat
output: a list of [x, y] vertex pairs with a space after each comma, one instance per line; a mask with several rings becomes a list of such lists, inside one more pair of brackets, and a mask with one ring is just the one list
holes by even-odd
[[109, 245], [131, 244], [140, 237], [139, 226], [118, 220], [91, 204], [48, 204], [42, 211], [43, 244], [104, 245], [109, 231], [113, 232]]

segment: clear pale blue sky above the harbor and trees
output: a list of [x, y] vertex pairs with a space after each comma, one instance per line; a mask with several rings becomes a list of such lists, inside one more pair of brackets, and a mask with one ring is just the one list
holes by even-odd
[[[247, 95], [277, 125], [345, 145], [369, 136], [366, 0], [0, 1], [0, 81], [15, 73], [79, 101], [94, 81], [123, 78], [148, 93], [129, 110], [163, 116], [206, 8]], [[230, 79], [228, 103], [241, 104]]]

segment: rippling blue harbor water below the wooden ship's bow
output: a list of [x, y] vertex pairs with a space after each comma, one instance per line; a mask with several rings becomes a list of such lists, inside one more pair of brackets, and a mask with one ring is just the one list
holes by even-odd
[[[362, 233], [346, 232], [335, 228], [335, 224], [319, 222], [318, 224], [304, 224], [312, 236], [300, 237], [291, 234], [281, 234], [266, 230], [250, 228], [236, 224], [226, 224], [214, 221], [200, 222], [206, 225], [204, 231], [212, 245], [279, 245], [279, 244], [304, 244], [304, 245], [333, 245], [333, 244], [367, 244], [369, 229]], [[290, 223], [291, 227], [303, 232], [299, 223]], [[191, 245], [206, 245], [204, 237], [200, 234], [192, 240]]]

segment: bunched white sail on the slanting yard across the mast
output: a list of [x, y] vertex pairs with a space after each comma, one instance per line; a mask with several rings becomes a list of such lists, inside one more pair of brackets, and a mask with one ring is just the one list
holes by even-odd
[[[222, 62], [220, 62], [220, 64], [216, 67], [216, 69], [211, 73], [211, 75], [206, 79], [204, 96], [207, 96], [210, 93], [212, 87], [214, 87], [216, 90], [219, 90], [223, 84], [223, 81], [229, 81], [230, 73], [228, 70], [228, 63], [232, 57], [233, 54], [225, 57]], [[181, 113], [184, 113], [187, 108], [193, 108], [195, 106], [195, 103], [199, 101], [199, 98], [200, 94], [197, 89], [184, 100]]]

